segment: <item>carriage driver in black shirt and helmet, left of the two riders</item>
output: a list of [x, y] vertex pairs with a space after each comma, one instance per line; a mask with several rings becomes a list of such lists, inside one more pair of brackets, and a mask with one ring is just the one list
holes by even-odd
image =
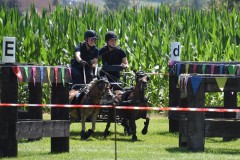
[[98, 48], [95, 41], [98, 39], [93, 30], [84, 34], [84, 42], [75, 48], [75, 57], [71, 63], [72, 83], [88, 84], [93, 79], [93, 69], [98, 63]]

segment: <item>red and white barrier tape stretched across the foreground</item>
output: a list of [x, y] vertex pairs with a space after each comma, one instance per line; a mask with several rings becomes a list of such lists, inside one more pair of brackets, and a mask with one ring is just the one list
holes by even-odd
[[180, 108], [176, 107], [146, 107], [146, 106], [112, 106], [112, 105], [72, 105], [72, 104], [11, 104], [0, 103], [0, 107], [55, 107], [55, 108], [116, 108], [128, 110], [155, 110], [155, 111], [186, 111], [186, 112], [240, 112], [240, 109], [226, 108]]

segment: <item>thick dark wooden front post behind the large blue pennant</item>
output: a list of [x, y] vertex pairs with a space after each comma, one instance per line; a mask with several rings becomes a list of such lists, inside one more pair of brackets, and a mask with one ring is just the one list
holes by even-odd
[[[203, 108], [205, 102], [204, 79], [194, 95], [192, 90], [191, 79], [187, 84], [188, 104], [190, 108]], [[188, 112], [187, 113], [187, 149], [189, 151], [204, 151], [204, 113]]]

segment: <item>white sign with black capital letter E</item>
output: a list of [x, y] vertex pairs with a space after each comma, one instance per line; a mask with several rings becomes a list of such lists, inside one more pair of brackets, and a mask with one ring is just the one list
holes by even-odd
[[2, 62], [16, 62], [16, 37], [3, 37]]

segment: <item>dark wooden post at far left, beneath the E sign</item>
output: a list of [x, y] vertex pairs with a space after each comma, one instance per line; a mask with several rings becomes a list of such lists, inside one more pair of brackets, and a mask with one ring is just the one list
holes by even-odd
[[[1, 103], [17, 103], [17, 77], [12, 67], [2, 67], [1, 71]], [[5, 134], [0, 136], [0, 157], [17, 156], [16, 122], [17, 107], [0, 107], [0, 128], [5, 128]]]

